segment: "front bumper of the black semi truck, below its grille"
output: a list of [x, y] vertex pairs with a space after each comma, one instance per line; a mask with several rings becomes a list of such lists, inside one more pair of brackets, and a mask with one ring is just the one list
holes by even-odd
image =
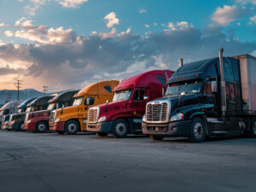
[[142, 123], [143, 134], [164, 137], [189, 137], [190, 120], [176, 121], [169, 124]]

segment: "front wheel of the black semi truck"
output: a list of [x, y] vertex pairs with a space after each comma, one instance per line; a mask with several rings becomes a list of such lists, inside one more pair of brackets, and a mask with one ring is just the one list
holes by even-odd
[[199, 143], [205, 140], [207, 125], [201, 118], [194, 118], [190, 123], [189, 142]]

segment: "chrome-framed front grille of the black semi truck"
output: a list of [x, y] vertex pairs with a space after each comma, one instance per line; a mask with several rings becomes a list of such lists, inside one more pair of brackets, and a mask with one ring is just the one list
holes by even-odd
[[149, 102], [146, 120], [148, 123], [166, 123], [168, 121], [168, 102]]

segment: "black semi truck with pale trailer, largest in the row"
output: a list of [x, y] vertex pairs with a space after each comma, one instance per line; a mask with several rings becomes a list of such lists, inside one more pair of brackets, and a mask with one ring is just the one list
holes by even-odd
[[179, 67], [166, 96], [148, 102], [143, 134], [154, 140], [188, 137], [256, 136], [256, 58], [223, 56]]

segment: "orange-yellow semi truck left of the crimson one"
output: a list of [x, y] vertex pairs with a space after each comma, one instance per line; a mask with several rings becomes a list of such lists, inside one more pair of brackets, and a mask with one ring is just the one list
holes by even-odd
[[86, 131], [89, 108], [112, 101], [113, 88], [119, 84], [117, 80], [101, 81], [90, 84], [80, 90], [74, 97], [73, 106], [57, 109], [49, 117], [49, 130], [60, 134], [76, 134]]

